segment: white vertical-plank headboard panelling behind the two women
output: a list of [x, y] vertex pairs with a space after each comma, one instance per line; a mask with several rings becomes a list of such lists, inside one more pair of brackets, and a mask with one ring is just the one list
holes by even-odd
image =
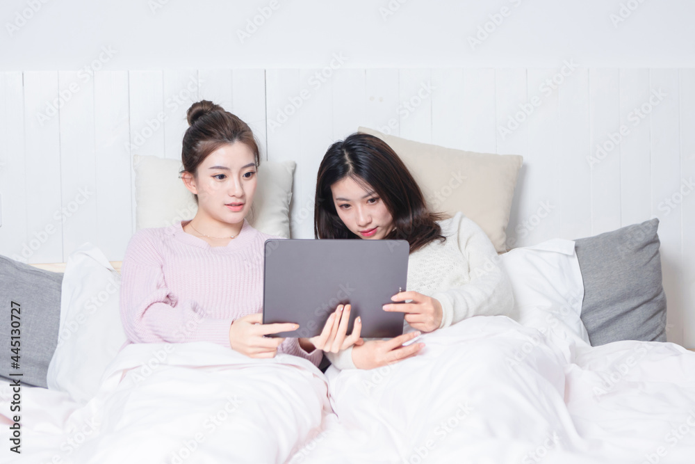
[[514, 246], [660, 218], [669, 339], [695, 346], [693, 69], [5, 72], [0, 99], [1, 254], [65, 262], [92, 241], [122, 259], [131, 155], [180, 157], [186, 109], [211, 99], [250, 123], [267, 159], [297, 162], [293, 237], [313, 236], [325, 150], [359, 126], [523, 155]]

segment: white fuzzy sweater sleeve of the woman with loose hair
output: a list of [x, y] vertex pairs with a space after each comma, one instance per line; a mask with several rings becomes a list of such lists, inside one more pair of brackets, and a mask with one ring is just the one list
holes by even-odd
[[500, 266], [492, 242], [485, 232], [461, 213], [452, 218], [458, 248], [468, 262], [470, 282], [432, 295], [441, 303], [442, 320], [439, 328], [473, 316], [509, 316], [514, 307], [514, 295], [509, 277]]

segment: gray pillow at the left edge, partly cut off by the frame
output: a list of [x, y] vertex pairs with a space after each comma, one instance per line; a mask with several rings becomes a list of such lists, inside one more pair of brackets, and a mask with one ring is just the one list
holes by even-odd
[[[43, 271], [0, 255], [1, 377], [19, 378], [23, 385], [47, 387], [48, 365], [58, 345], [62, 284], [63, 273]], [[13, 329], [19, 330], [19, 339], [12, 338], [17, 337]], [[17, 340], [19, 350], [13, 352], [11, 342], [16, 345]], [[13, 359], [17, 353], [19, 358]], [[13, 367], [14, 362], [18, 369]]]

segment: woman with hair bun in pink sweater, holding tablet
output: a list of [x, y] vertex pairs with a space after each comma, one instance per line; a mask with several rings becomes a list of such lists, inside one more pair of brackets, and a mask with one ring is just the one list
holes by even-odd
[[[188, 109], [181, 179], [198, 209], [190, 221], [136, 232], [122, 266], [121, 314], [131, 342], [208, 341], [252, 358], [277, 353], [319, 364], [322, 349], [338, 351], [359, 333], [338, 333], [350, 307], [338, 306], [311, 339], [266, 337], [294, 323], [263, 324], [263, 243], [279, 239], [254, 229], [252, 209], [259, 145], [250, 127], [202, 100]], [[344, 309], [344, 310], [343, 310]], [[345, 314], [346, 317], [342, 317]], [[336, 330], [334, 330], [334, 328]]]

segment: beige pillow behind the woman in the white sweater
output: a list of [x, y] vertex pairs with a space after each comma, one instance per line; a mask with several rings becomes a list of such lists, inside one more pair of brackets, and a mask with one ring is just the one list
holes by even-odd
[[453, 150], [366, 127], [358, 131], [379, 137], [393, 148], [420, 185], [432, 211], [450, 215], [461, 211], [480, 225], [498, 253], [507, 251], [507, 224], [523, 157]]

